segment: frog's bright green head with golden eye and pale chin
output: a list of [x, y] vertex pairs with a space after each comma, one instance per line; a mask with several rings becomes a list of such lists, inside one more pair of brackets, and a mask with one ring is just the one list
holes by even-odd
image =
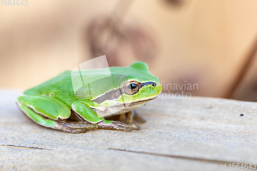
[[[115, 73], [115, 68], [111, 70]], [[125, 75], [126, 81], [120, 84], [120, 97], [113, 98], [117, 103], [147, 102], [155, 99], [161, 92], [161, 84], [157, 77], [150, 73], [148, 65], [144, 62], [135, 62], [128, 67], [118, 70]], [[115, 75], [115, 74], [114, 74]]]

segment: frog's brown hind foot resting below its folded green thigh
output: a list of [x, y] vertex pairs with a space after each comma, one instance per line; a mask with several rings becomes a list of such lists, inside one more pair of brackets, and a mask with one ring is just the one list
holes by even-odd
[[85, 133], [87, 129], [98, 129], [97, 124], [90, 124], [87, 121], [66, 121], [56, 123], [56, 129], [71, 133]]

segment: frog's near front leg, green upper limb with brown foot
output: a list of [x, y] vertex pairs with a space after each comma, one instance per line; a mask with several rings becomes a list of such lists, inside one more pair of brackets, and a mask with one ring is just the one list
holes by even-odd
[[72, 110], [77, 113], [82, 119], [98, 125], [98, 129], [112, 129], [112, 130], [125, 130], [132, 131], [132, 129], [140, 129], [140, 126], [135, 124], [128, 125], [120, 121], [107, 121], [103, 117], [97, 115], [97, 113], [91, 108], [100, 107], [98, 103], [87, 99], [80, 99], [72, 103]]

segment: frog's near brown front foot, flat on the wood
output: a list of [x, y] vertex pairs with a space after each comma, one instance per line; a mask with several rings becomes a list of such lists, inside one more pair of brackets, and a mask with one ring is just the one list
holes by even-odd
[[138, 126], [135, 124], [128, 125], [120, 121], [103, 120], [97, 124], [98, 124], [98, 129], [125, 130], [127, 132], [131, 132], [133, 129], [141, 129], [141, 126]]

